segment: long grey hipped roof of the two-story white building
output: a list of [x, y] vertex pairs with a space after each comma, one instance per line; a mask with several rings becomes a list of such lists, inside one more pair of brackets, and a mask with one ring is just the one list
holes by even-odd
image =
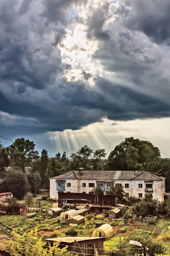
[[164, 180], [155, 174], [146, 171], [94, 171], [94, 170], [75, 170], [70, 171], [51, 179], [87, 179], [87, 180]]

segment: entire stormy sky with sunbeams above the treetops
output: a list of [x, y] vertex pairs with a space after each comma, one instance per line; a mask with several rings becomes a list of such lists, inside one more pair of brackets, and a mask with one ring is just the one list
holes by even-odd
[[170, 157], [169, 12], [169, 0], [1, 0], [0, 135], [51, 155], [134, 136]]

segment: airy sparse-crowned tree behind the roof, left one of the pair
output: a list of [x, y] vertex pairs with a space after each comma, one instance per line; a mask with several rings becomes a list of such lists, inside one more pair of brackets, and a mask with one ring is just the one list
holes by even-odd
[[86, 168], [87, 163], [91, 159], [93, 150], [89, 148], [87, 145], [84, 145], [81, 149], [76, 151], [76, 153], [71, 153], [70, 158], [74, 161], [77, 162], [78, 165], [82, 165], [82, 167]]

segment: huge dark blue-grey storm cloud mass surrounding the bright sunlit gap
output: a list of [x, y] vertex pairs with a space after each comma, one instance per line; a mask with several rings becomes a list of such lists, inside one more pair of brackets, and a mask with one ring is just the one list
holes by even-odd
[[[153, 47], [152, 40], [160, 41], [153, 33], [147, 35], [142, 25], [154, 1], [140, 15], [137, 1], [119, 1], [113, 10], [115, 19], [108, 25], [105, 23], [112, 14], [107, 3], [90, 9], [87, 39], [99, 41], [93, 59], [101, 61], [106, 73], [102, 78], [96, 76], [92, 87], [85, 85], [93, 76], [90, 71], [82, 72], [85, 82], [68, 82], [63, 77], [65, 69], [71, 71], [72, 66], [62, 64], [58, 43], [67, 24], [70, 26], [71, 4], [82, 2], [1, 1], [0, 124], [5, 135], [76, 130], [103, 117], [169, 116], [169, 71], [165, 67], [170, 56], [166, 47]], [[132, 21], [137, 19], [134, 27]], [[168, 33], [164, 38], [161, 42], [168, 42]]]

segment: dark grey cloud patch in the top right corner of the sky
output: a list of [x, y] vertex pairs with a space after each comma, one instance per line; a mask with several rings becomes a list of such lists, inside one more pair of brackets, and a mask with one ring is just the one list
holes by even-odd
[[[129, 2], [129, 1], [128, 1]], [[126, 5], [126, 1], [125, 1]], [[123, 6], [123, 5], [122, 5]], [[123, 6], [124, 13], [128, 12], [124, 25], [132, 30], [145, 33], [155, 43], [170, 44], [170, 1], [131, 1], [132, 11]]]

